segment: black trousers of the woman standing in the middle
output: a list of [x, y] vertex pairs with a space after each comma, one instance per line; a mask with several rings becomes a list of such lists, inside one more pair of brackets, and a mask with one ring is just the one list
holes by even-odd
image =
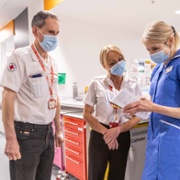
[[88, 180], [104, 180], [109, 162], [108, 180], [124, 180], [130, 147], [130, 132], [121, 133], [117, 138], [119, 148], [109, 150], [103, 135], [92, 130], [89, 140]]

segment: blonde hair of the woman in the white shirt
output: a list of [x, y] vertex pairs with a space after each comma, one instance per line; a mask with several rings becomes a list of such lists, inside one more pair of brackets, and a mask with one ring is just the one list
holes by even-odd
[[99, 55], [100, 63], [102, 64], [102, 66], [104, 66], [104, 63], [107, 60], [107, 55], [110, 51], [117, 52], [119, 55], [122, 56], [122, 59], [124, 59], [124, 55], [122, 54], [121, 50], [117, 46], [106, 45], [102, 48], [102, 50], [100, 51], [100, 55]]

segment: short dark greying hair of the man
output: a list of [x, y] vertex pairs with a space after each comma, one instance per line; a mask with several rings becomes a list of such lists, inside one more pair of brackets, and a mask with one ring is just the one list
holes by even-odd
[[45, 20], [49, 17], [59, 21], [57, 15], [51, 11], [39, 11], [36, 15], [34, 15], [31, 22], [31, 27], [36, 26], [38, 28], [42, 28], [46, 23]]

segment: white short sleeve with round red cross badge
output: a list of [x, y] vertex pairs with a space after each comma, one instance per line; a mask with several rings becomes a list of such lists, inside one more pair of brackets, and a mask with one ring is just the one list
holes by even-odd
[[18, 92], [23, 83], [24, 77], [24, 61], [21, 56], [13, 53], [5, 66], [0, 85]]

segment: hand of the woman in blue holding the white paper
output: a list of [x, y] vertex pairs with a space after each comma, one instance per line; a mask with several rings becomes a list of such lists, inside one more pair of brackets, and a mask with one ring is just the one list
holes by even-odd
[[124, 113], [135, 114], [140, 111], [153, 111], [153, 102], [147, 98], [141, 98], [139, 101], [128, 104], [124, 107]]

